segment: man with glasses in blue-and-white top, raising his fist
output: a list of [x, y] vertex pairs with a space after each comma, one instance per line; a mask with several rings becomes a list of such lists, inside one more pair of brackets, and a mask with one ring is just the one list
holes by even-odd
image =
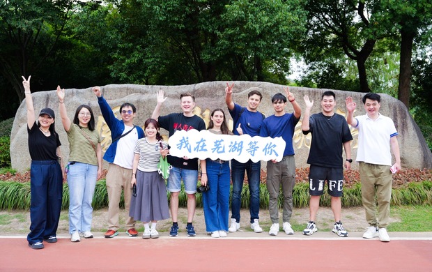
[[124, 191], [125, 211], [128, 218], [125, 222], [127, 234], [130, 237], [138, 236], [135, 230], [135, 220], [129, 216], [130, 197], [132, 195], [131, 176], [132, 162], [134, 159], [134, 146], [138, 139], [144, 137], [144, 130], [134, 126], [133, 120], [137, 109], [131, 103], [123, 103], [120, 106], [121, 120], [116, 119], [114, 112], [109, 107], [107, 100], [103, 98], [99, 86], [93, 87], [93, 92], [98, 97], [100, 112], [104, 117], [109, 130], [111, 130], [111, 144], [105, 152], [104, 160], [109, 163], [107, 172], [108, 191], [108, 230], [105, 238], [118, 235], [120, 228], [118, 214], [121, 190]]

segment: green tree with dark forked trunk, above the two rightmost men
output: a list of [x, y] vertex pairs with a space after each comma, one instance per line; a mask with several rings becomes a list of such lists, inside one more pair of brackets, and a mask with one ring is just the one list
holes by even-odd
[[375, 19], [380, 13], [379, 7], [377, 1], [306, 1], [308, 35], [300, 50], [304, 52], [304, 59], [314, 63], [345, 54], [357, 63], [360, 91], [371, 91], [367, 59], [376, 42], [388, 35]]

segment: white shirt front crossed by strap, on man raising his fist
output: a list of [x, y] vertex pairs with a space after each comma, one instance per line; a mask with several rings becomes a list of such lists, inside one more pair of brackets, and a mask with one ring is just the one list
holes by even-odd
[[[133, 126], [126, 126], [123, 130], [123, 134], [128, 133], [132, 130]], [[114, 158], [114, 164], [126, 169], [132, 169], [132, 163], [134, 161], [134, 147], [138, 140], [138, 131], [134, 129], [125, 137], [121, 137], [117, 143], [116, 157]]]

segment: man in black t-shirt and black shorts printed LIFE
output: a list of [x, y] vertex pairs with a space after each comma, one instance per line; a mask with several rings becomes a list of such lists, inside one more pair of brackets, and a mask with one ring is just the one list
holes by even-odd
[[[332, 91], [325, 91], [321, 96], [322, 112], [311, 116], [311, 108], [314, 101], [304, 96], [306, 110], [302, 121], [302, 131], [304, 135], [312, 134], [311, 149], [307, 163], [309, 168], [309, 222], [304, 235], [312, 235], [317, 232], [315, 218], [320, 204], [320, 197], [324, 193], [325, 181], [327, 181], [328, 193], [332, 211], [334, 215], [334, 227], [332, 232], [346, 237], [348, 232], [341, 223], [341, 196], [342, 186], [344, 184], [344, 168], [342, 158], [342, 146], [345, 149], [346, 169], [350, 169], [351, 147], [350, 142], [353, 136], [348, 128], [348, 123], [344, 116], [334, 112], [336, 105], [336, 96]], [[309, 117], [310, 116], [310, 117]]]

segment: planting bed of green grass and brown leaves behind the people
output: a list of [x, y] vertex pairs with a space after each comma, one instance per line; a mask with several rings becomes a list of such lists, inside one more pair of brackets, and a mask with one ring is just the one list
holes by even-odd
[[[106, 174], [106, 172], [105, 172]], [[295, 207], [309, 206], [309, 169], [296, 169], [296, 181], [293, 190], [293, 204]], [[260, 184], [260, 206], [268, 208], [268, 190], [265, 186], [265, 172], [261, 171]], [[29, 208], [29, 172], [25, 174], [8, 173], [0, 174], [0, 209], [28, 209]], [[361, 206], [362, 193], [360, 185], [360, 174], [358, 171], [350, 170], [344, 172], [344, 195], [342, 205], [345, 207]], [[19, 181], [19, 182], [16, 182]], [[231, 188], [232, 190], [232, 188]], [[245, 186], [242, 189], [241, 207], [249, 207], [249, 186], [245, 180]], [[167, 196], [170, 197], [169, 192]], [[283, 196], [279, 195], [279, 208], [283, 204]], [[187, 206], [187, 194], [184, 187], [178, 195], [180, 206]], [[20, 202], [20, 203], [18, 203]], [[22, 202], [22, 203], [21, 203]], [[407, 169], [394, 175], [392, 190], [392, 205], [407, 204], [432, 204], [432, 173], [428, 169]], [[96, 183], [95, 195], [93, 197], [93, 208], [101, 209], [108, 205], [107, 188], [105, 180]], [[63, 202], [62, 209], [68, 209], [69, 206], [69, 189], [68, 184], [63, 184]], [[122, 194], [120, 206], [124, 206], [124, 197]], [[196, 194], [196, 206], [202, 206], [201, 194]], [[321, 197], [321, 206], [330, 206], [330, 196], [328, 194]]]

